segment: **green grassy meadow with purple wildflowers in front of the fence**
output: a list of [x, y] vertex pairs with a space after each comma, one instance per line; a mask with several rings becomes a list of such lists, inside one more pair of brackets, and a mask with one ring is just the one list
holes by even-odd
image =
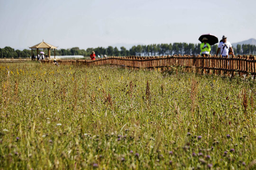
[[256, 169], [256, 82], [0, 64], [0, 170]]

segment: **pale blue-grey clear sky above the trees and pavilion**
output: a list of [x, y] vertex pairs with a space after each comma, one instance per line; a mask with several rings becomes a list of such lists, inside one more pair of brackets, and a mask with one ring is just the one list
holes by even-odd
[[0, 0], [0, 48], [58, 49], [256, 38], [256, 0]]

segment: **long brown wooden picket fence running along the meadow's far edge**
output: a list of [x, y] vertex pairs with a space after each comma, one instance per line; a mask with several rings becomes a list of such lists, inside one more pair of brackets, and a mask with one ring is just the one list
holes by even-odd
[[[255, 56], [234, 56], [231, 58], [223, 58], [221, 56], [190, 56], [190, 55], [174, 55], [174, 56], [157, 56], [157, 57], [109, 57], [96, 60], [57, 60], [60, 64], [76, 64], [86, 66], [99, 65], [119, 65], [130, 68], [170, 68], [171, 66], [179, 66], [183, 68], [192, 68], [189, 70], [215, 73], [215, 74], [231, 74], [239, 73], [240, 75], [256, 75], [256, 57]], [[49, 61], [46, 61], [49, 62]]]

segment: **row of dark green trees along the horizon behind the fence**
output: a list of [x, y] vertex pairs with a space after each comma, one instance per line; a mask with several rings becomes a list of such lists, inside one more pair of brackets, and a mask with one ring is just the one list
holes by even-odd
[[[212, 55], [216, 54], [218, 45], [212, 45], [210, 53]], [[247, 54], [256, 54], [256, 46], [250, 44], [237, 45], [234, 49], [236, 55], [247, 55]], [[46, 54], [47, 50], [44, 51]], [[130, 49], [121, 47], [120, 50], [117, 47], [109, 46], [107, 48], [97, 47], [97, 48], [87, 48], [79, 49], [79, 47], [73, 47], [71, 49], [60, 49], [56, 50], [55, 54], [58, 56], [64, 55], [82, 55], [84, 57], [90, 56], [91, 51], [95, 51], [97, 55], [108, 55], [108, 56], [162, 56], [162, 55], [174, 55], [174, 54], [189, 54], [197, 55], [200, 54], [200, 43], [186, 43], [186, 42], [174, 42], [174, 43], [162, 43], [162, 44], [150, 44], [150, 45], [137, 45], [132, 46]], [[36, 50], [33, 50], [33, 53], [36, 54]], [[54, 55], [53, 50], [51, 50], [51, 56]], [[0, 48], [0, 58], [27, 58], [31, 56], [31, 50], [24, 49], [23, 51], [15, 50], [11, 47]]]

